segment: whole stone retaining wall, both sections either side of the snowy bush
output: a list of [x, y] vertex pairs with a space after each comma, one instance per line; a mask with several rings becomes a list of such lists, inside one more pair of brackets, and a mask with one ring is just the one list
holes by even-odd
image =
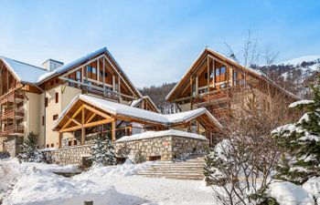
[[[116, 157], [126, 159], [129, 155], [141, 155], [146, 160], [173, 160], [187, 153], [204, 152], [208, 139], [197, 139], [177, 136], [144, 138], [116, 142]], [[49, 163], [83, 164], [83, 159], [91, 155], [91, 145], [65, 147], [43, 151]]]

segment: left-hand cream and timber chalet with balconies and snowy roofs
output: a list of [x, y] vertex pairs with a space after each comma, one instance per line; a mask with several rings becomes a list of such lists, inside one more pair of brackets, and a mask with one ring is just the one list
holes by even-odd
[[[0, 57], [0, 151], [15, 155], [30, 132], [37, 135], [40, 149], [58, 148], [59, 132], [52, 129], [53, 125], [70, 101], [82, 94], [158, 112], [153, 101], [133, 86], [106, 47], [67, 65], [48, 59], [42, 67], [35, 67]], [[72, 116], [65, 118], [72, 121], [67, 127], [77, 124]], [[86, 121], [93, 119], [91, 116]], [[80, 144], [77, 135], [66, 133], [65, 144]]]

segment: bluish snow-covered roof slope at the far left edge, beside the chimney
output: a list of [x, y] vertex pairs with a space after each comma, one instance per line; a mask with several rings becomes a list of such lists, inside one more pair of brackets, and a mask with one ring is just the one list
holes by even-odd
[[4, 61], [6, 67], [9, 67], [21, 82], [36, 84], [38, 77], [48, 73], [48, 70], [41, 67], [35, 67], [4, 56], [0, 58]]

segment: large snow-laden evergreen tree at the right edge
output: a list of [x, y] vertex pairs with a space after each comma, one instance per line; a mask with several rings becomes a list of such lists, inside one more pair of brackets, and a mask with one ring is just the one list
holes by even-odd
[[320, 175], [320, 87], [311, 88], [312, 100], [301, 100], [289, 106], [304, 110], [303, 117], [272, 132], [285, 149], [277, 167], [277, 178], [297, 184]]

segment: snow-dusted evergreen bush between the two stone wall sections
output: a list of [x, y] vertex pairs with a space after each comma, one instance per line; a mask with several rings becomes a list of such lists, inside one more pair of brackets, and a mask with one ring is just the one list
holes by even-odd
[[114, 155], [114, 148], [110, 139], [105, 139], [102, 136], [97, 136], [93, 139], [91, 147], [94, 165], [115, 165], [116, 159]]

